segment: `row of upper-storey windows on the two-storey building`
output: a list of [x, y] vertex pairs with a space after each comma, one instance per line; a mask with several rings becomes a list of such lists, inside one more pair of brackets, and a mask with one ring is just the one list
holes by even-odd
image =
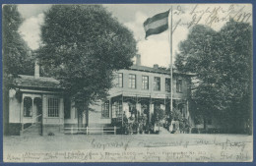
[[[117, 86], [123, 87], [123, 74], [119, 73], [117, 77]], [[137, 88], [136, 75], [129, 74], [129, 88]], [[142, 89], [149, 89], [149, 76], [142, 76]], [[160, 77], [154, 77], [154, 90], [160, 91]], [[165, 78], [165, 91], [170, 91], [170, 79]], [[176, 92], [182, 92], [182, 80], [176, 81]]]

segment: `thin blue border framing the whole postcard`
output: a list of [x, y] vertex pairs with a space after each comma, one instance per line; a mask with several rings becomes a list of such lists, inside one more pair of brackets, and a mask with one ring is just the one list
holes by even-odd
[[[256, 11], [254, 8], [254, 5], [256, 4], [256, 1], [254, 0], [222, 0], [222, 1], [218, 1], [218, 0], [2, 0], [0, 2], [0, 4], [160, 4], [160, 3], [183, 3], [183, 4], [196, 4], [196, 3], [206, 3], [206, 4], [211, 4], [211, 3], [220, 3], [220, 4], [224, 4], [224, 3], [250, 3], [253, 5], [253, 50], [255, 50], [256, 48], [256, 44], [255, 44], [255, 39], [256, 39], [256, 26], [254, 25], [255, 20], [256, 20]], [[2, 17], [2, 8], [1, 10], [1, 17]], [[2, 24], [0, 26], [0, 29], [2, 30]], [[2, 33], [0, 34], [1, 38], [2, 38]], [[0, 46], [2, 48], [2, 40], [0, 42]], [[2, 57], [2, 52], [1, 52], [1, 57]], [[255, 67], [255, 63], [256, 63], [256, 58], [255, 58], [255, 52], [253, 52], [253, 71], [256, 70]], [[1, 66], [1, 86], [2, 84], [2, 61], [0, 62], [0, 66]], [[256, 79], [256, 74], [253, 73], [253, 95], [256, 94], [256, 90], [255, 90], [255, 79]], [[256, 133], [256, 128], [255, 128], [255, 120], [256, 120], [256, 115], [255, 115], [255, 104], [256, 101], [253, 100], [253, 152], [255, 154], [255, 149], [256, 149], [256, 143], [255, 143], [255, 133]], [[3, 96], [2, 96], [2, 88], [1, 88], [1, 100], [0, 100], [0, 105], [3, 105]], [[0, 113], [0, 119], [3, 120], [3, 108], [1, 107], [1, 113]], [[2, 121], [1, 121], [2, 122]], [[0, 123], [0, 141], [1, 141], [1, 145], [0, 145], [0, 154], [3, 154], [3, 123]], [[3, 162], [3, 156], [0, 155], [0, 165], [39, 165], [39, 166], [43, 166], [43, 165], [65, 165], [65, 166], [75, 166], [75, 165], [82, 165], [82, 164], [86, 164], [89, 166], [99, 166], [99, 165], [122, 165], [122, 166], [138, 166], [138, 165], [148, 165], [148, 166], [154, 166], [157, 163], [154, 162], [149, 162], [149, 163], [141, 163], [141, 162], [133, 162], [133, 163], [129, 163], [129, 162], [119, 162], [119, 163], [4, 163]], [[244, 163], [234, 163], [234, 162], [211, 162], [211, 163], [196, 163], [196, 162], [186, 162], [186, 163], [180, 163], [180, 162], [173, 162], [173, 163], [158, 163], [158, 165], [160, 166], [165, 166], [165, 165], [189, 165], [189, 166], [203, 166], [203, 165], [207, 165], [207, 166], [228, 166], [228, 165], [256, 165], [256, 155], [253, 156], [253, 162], [244, 162]]]

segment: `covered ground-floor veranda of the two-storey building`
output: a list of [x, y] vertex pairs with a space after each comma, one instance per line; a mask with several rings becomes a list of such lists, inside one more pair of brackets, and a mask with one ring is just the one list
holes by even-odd
[[[125, 119], [139, 121], [140, 117], [146, 117], [146, 123], [152, 123], [152, 117], [156, 109], [162, 109], [166, 119], [170, 118], [169, 94], [144, 94], [119, 92], [109, 97], [102, 105], [102, 113], [108, 114], [111, 123], [122, 127]], [[188, 101], [173, 98], [173, 108], [180, 111], [184, 118], [188, 118]]]

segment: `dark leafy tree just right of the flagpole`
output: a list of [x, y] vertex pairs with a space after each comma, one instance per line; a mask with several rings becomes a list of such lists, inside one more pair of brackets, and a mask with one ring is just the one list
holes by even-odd
[[215, 100], [212, 100], [213, 88], [215, 83], [215, 68], [213, 61], [215, 59], [215, 51], [212, 45], [214, 37], [218, 37], [217, 32], [212, 28], [201, 25], [195, 26], [188, 34], [187, 40], [180, 43], [180, 53], [177, 54], [175, 66], [179, 71], [192, 72], [197, 74], [197, 80], [200, 85], [193, 93], [193, 99], [197, 103], [196, 114], [206, 117], [214, 108]]

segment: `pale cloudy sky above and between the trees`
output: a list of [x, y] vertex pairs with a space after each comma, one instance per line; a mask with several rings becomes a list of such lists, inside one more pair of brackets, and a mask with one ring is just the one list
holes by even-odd
[[[251, 4], [104, 4], [121, 24], [129, 28], [137, 41], [141, 63], [152, 67], [159, 64], [167, 67], [170, 63], [168, 30], [145, 39], [143, 23], [159, 13], [172, 9], [172, 61], [179, 52], [178, 45], [187, 38], [195, 25], [205, 25], [220, 30], [230, 19], [252, 25]], [[40, 44], [40, 25], [50, 4], [21, 4], [18, 10], [25, 19], [20, 33], [28, 45], [36, 50]]]

